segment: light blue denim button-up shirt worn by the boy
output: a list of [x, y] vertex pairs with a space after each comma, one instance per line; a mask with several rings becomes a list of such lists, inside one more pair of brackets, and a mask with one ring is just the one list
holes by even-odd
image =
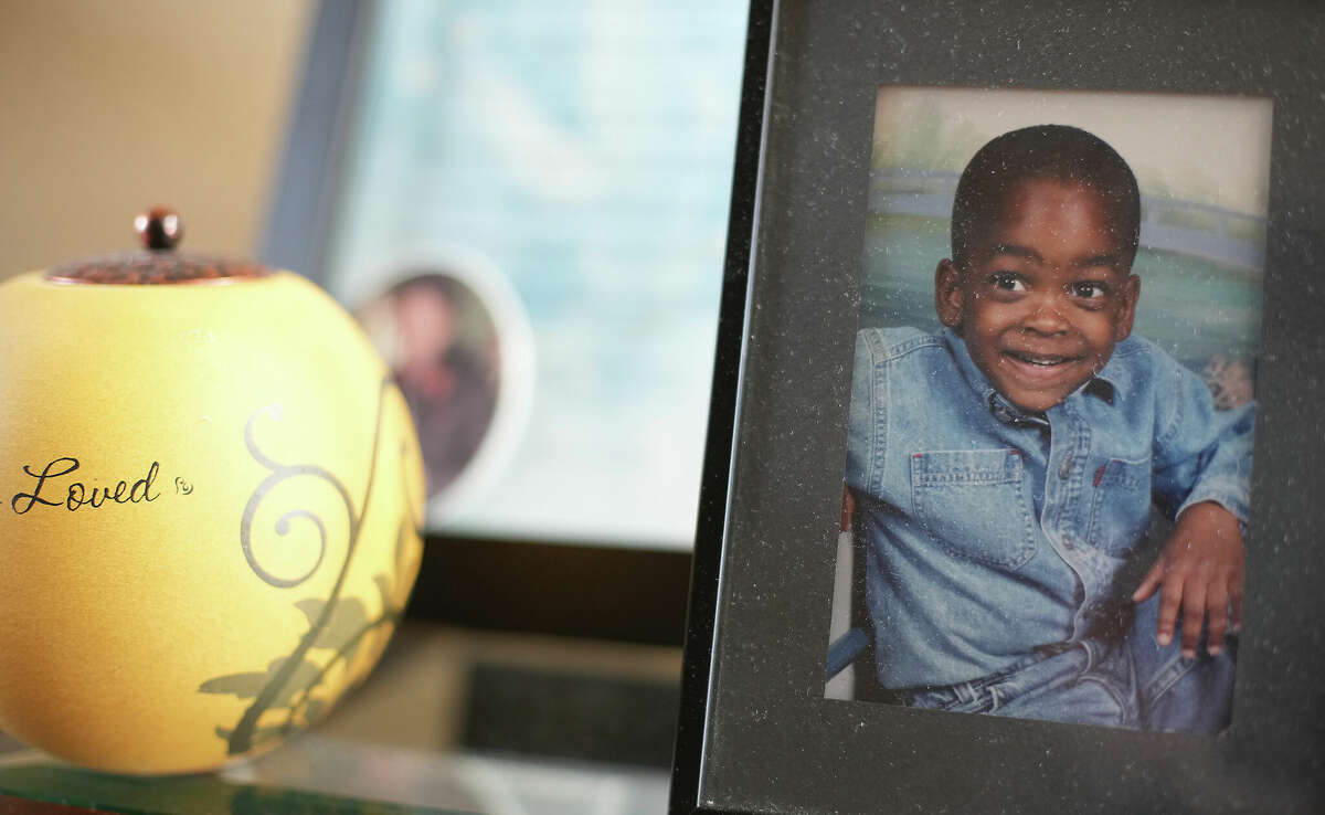
[[[1151, 505], [1215, 501], [1246, 525], [1253, 406], [1129, 338], [1044, 415], [1003, 399], [951, 331], [856, 341], [847, 485], [867, 541], [885, 688], [998, 673], [1098, 636]], [[1125, 600], [1122, 600], [1125, 602]]]

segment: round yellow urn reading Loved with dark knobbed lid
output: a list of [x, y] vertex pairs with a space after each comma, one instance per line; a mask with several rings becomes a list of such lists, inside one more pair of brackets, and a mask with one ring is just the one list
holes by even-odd
[[118, 773], [317, 722], [417, 574], [423, 462], [358, 326], [289, 272], [136, 253], [0, 285], [0, 730]]

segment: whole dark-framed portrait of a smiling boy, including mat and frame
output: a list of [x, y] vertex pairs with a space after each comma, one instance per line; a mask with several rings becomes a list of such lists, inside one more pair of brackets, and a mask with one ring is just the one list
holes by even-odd
[[674, 812], [1325, 810], [1322, 41], [753, 4]]

